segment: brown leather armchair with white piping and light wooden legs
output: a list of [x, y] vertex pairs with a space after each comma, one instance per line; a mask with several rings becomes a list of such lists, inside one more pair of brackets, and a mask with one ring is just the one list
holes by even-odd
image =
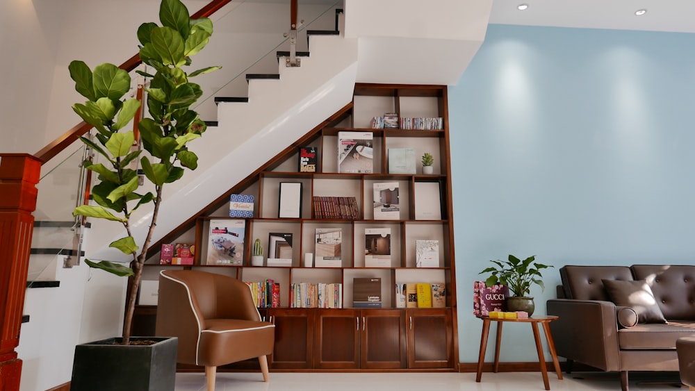
[[217, 367], [257, 357], [268, 381], [275, 325], [261, 322], [251, 290], [236, 278], [194, 270], [159, 275], [156, 335], [179, 338], [177, 363], [205, 367], [208, 391]]

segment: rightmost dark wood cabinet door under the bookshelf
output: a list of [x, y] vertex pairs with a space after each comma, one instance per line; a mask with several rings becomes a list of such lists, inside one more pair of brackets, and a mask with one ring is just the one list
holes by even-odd
[[407, 317], [408, 367], [453, 367], [450, 308], [407, 310]]

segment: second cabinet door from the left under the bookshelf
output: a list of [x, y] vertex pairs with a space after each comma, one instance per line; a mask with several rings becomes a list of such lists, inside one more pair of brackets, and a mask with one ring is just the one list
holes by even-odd
[[359, 368], [359, 310], [317, 310], [314, 367]]

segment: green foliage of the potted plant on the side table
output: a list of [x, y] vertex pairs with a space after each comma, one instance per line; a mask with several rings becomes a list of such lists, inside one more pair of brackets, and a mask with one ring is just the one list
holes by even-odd
[[543, 280], [541, 280], [541, 269], [553, 267], [553, 265], [543, 265], [536, 262], [536, 256], [530, 256], [525, 260], [520, 260], [509, 254], [507, 260], [491, 260], [495, 266], [484, 269], [479, 274], [491, 273], [486, 279], [485, 285], [488, 287], [496, 284], [507, 285], [515, 297], [528, 297], [531, 292], [531, 285], [536, 284], [545, 290]]

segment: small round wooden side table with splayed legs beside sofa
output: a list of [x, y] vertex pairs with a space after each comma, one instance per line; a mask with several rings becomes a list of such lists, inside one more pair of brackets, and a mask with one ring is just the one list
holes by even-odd
[[514, 323], [530, 323], [533, 330], [533, 338], [536, 341], [536, 350], [538, 351], [538, 361], [541, 365], [541, 372], [543, 374], [543, 384], [546, 385], [546, 390], [550, 390], [550, 383], [548, 383], [548, 369], [546, 368], [546, 359], [543, 357], [543, 347], [541, 346], [541, 335], [538, 331], [537, 324], [543, 326], [543, 331], [546, 333], [546, 341], [548, 341], [548, 349], [550, 350], [550, 356], [553, 356], [553, 365], [555, 365], [555, 372], [557, 372], [557, 378], [562, 380], [562, 372], [560, 372], [560, 364], [557, 361], [557, 353], [555, 353], [555, 342], [553, 342], [553, 335], [550, 335], [550, 322], [558, 319], [556, 316], [535, 316], [528, 319], [501, 319], [496, 317], [486, 317], [478, 316], [482, 319], [482, 335], [480, 336], [480, 354], [478, 356], [478, 366], [477, 375], [475, 376], [475, 381], [480, 383], [480, 378], [482, 377], [482, 365], [485, 360], [485, 350], [487, 349], [487, 337], [490, 333], [491, 322], [497, 322], [497, 342], [495, 344], [495, 366], [493, 367], [493, 372], [497, 373], [500, 367], [500, 342], [502, 341], [502, 324], [505, 322]]

